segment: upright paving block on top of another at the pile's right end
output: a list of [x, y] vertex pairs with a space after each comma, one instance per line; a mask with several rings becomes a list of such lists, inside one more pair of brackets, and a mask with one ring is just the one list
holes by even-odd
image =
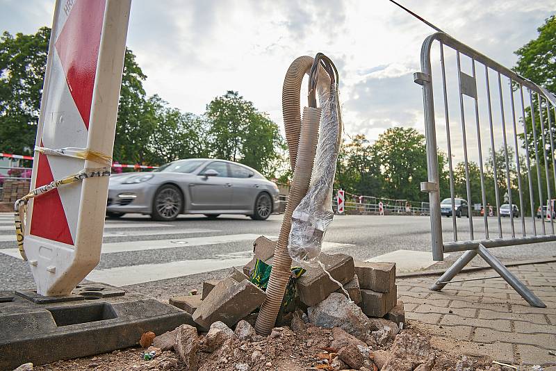
[[395, 283], [395, 263], [355, 262], [359, 286], [375, 292], [389, 292]]

